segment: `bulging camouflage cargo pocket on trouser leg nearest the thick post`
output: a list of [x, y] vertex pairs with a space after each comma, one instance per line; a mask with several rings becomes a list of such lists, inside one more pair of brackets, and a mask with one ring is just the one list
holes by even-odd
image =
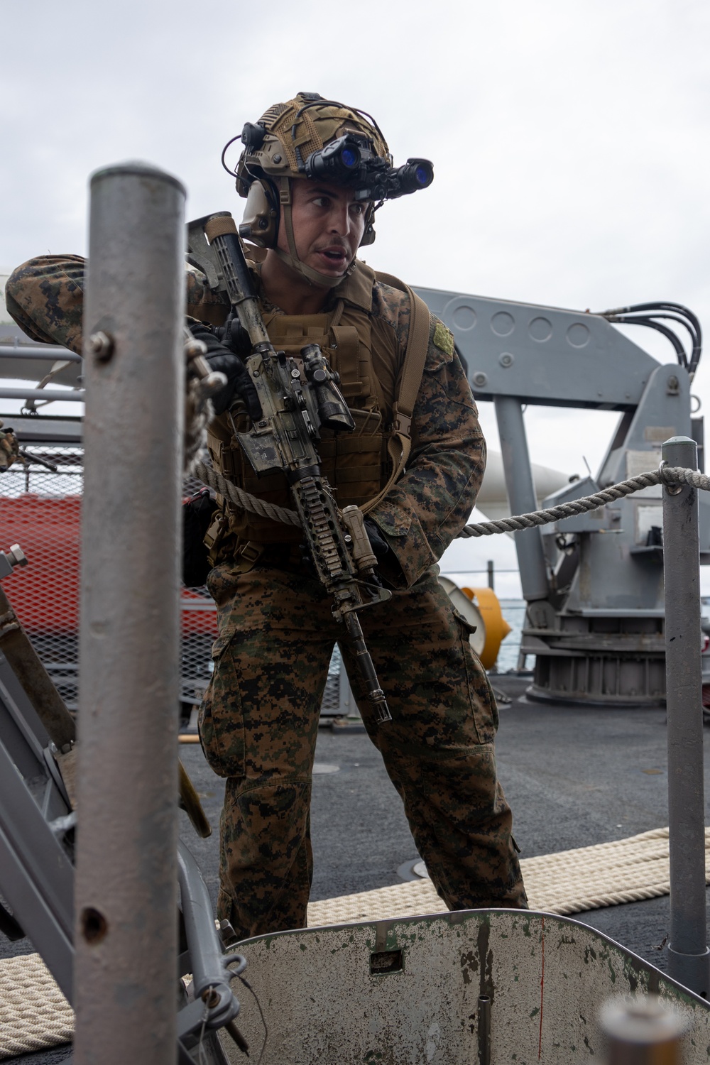
[[244, 712], [230, 637], [215, 640], [212, 660], [214, 672], [200, 706], [200, 743], [218, 776], [244, 776]]

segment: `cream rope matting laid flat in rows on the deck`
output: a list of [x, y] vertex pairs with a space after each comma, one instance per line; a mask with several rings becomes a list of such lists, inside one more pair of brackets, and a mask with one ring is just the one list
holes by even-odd
[[[710, 829], [706, 830], [706, 882], [710, 883]], [[531, 910], [577, 914], [599, 906], [667, 895], [668, 830], [559, 854], [523, 858]], [[446, 907], [430, 880], [311, 902], [309, 928], [441, 913]], [[38, 954], [0, 961], [0, 1059], [71, 1039], [71, 1007]]]

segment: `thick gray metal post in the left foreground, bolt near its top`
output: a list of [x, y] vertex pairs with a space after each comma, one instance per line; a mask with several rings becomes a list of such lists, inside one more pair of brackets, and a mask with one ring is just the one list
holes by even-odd
[[175, 1065], [182, 185], [90, 182], [77, 1065]]

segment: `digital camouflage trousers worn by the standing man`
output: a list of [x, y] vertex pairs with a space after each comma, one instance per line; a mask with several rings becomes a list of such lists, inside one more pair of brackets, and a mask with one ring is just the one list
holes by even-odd
[[[376, 724], [360, 698], [359, 708], [446, 905], [526, 907], [496, 774], [495, 699], [437, 572], [432, 567], [413, 588], [361, 612], [393, 720]], [[217, 913], [241, 938], [304, 928], [311, 774], [342, 626], [317, 581], [296, 567], [241, 574], [226, 563], [209, 585], [219, 636], [200, 737], [208, 761], [227, 777]]]

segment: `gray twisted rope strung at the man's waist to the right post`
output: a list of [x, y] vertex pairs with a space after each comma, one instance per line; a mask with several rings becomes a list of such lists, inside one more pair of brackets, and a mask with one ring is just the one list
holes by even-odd
[[[195, 475], [205, 485], [213, 488], [215, 492], [226, 496], [237, 507], [244, 510], [251, 510], [262, 518], [270, 518], [275, 522], [284, 522], [287, 525], [300, 525], [301, 521], [295, 510], [286, 507], [278, 507], [274, 503], [266, 503], [264, 499], [245, 492], [237, 488], [230, 480], [227, 480], [220, 473], [205, 465], [204, 462], [195, 464]], [[561, 503], [557, 507], [548, 510], [533, 510], [529, 514], [514, 514], [512, 518], [501, 518], [497, 522], [479, 522], [475, 525], [465, 525], [459, 532], [459, 537], [494, 536], [496, 532], [519, 532], [522, 529], [535, 528], [538, 525], [548, 525], [550, 522], [559, 522], [563, 518], [573, 518], [575, 514], [583, 514], [589, 510], [596, 510], [606, 503], [613, 503], [625, 495], [631, 495], [644, 488], [651, 488], [654, 485], [690, 485], [692, 488], [703, 489], [710, 492], [710, 477], [697, 470], [684, 470], [681, 466], [664, 466], [660, 470], [651, 470], [649, 473], [640, 473], [637, 477], [629, 477], [618, 485], [610, 485], [594, 495], [585, 495], [581, 499], [571, 499], [569, 503]]]

